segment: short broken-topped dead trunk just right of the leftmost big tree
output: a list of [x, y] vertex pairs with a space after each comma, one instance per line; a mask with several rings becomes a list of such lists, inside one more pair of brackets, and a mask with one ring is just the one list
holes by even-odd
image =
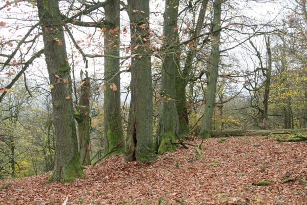
[[91, 165], [90, 160], [90, 79], [86, 75], [80, 89], [79, 105], [75, 110], [79, 138], [79, 158], [81, 165]]

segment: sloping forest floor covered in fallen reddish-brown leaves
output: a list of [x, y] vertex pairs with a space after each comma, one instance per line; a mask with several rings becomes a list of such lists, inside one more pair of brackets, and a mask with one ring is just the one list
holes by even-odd
[[[307, 143], [262, 136], [204, 140], [202, 155], [179, 148], [151, 164], [113, 156], [71, 183], [50, 173], [0, 181], [0, 204], [307, 204]], [[200, 139], [191, 139], [198, 144]], [[221, 141], [221, 140], [220, 140]], [[255, 186], [259, 180], [269, 186]]]

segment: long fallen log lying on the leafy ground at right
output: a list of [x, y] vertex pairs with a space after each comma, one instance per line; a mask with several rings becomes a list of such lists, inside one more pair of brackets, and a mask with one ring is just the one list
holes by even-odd
[[229, 137], [229, 136], [253, 136], [253, 135], [270, 135], [271, 133], [301, 133], [307, 132], [307, 129], [283, 129], [283, 130], [222, 130], [211, 131], [211, 137]]

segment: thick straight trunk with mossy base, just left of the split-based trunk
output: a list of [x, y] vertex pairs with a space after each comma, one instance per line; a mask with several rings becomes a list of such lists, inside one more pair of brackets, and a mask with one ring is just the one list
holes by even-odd
[[[105, 57], [105, 152], [109, 152], [122, 144], [123, 131], [120, 115], [120, 76], [119, 76], [119, 0], [109, 2], [105, 7], [105, 55], [118, 56]], [[111, 85], [112, 88], [109, 88]], [[121, 153], [122, 146], [115, 153]]]

